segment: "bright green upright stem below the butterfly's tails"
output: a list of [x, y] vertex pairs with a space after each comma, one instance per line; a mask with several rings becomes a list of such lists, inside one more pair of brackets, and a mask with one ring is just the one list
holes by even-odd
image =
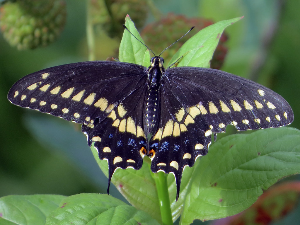
[[161, 219], [164, 225], [173, 225], [172, 212], [170, 208], [169, 190], [167, 184], [167, 175], [164, 172], [152, 173], [158, 192], [159, 207], [161, 210]]

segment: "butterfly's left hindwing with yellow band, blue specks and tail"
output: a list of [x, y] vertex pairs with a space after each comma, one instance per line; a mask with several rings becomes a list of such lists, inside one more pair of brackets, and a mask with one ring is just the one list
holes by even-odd
[[95, 142], [99, 158], [108, 161], [109, 183], [118, 167], [135, 170], [142, 167], [148, 148], [143, 131], [146, 87], [141, 79], [137, 88], [110, 110], [107, 118], [96, 120], [92, 125], [82, 125], [89, 146]]

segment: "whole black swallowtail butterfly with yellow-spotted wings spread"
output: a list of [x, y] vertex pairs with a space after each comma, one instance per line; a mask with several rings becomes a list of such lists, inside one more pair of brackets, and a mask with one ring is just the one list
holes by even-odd
[[[200, 67], [165, 69], [155, 56], [147, 68], [117, 61], [87, 61], [29, 74], [8, 100], [82, 124], [109, 166], [139, 170], [143, 157], [152, 172], [173, 173], [179, 196], [182, 171], [206, 155], [211, 135], [276, 128], [293, 121], [289, 104], [251, 80]], [[216, 136], [215, 136], [216, 137]]]

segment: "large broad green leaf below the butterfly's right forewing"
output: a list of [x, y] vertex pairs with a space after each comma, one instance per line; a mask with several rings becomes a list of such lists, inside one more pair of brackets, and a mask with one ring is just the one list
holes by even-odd
[[300, 172], [300, 131], [274, 128], [214, 143], [197, 162], [181, 224], [237, 214], [279, 179]]

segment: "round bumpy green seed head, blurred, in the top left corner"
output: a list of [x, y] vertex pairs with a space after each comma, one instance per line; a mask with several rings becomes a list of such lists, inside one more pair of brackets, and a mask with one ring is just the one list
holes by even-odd
[[8, 1], [0, 8], [0, 30], [11, 46], [35, 49], [55, 41], [64, 28], [63, 0]]

